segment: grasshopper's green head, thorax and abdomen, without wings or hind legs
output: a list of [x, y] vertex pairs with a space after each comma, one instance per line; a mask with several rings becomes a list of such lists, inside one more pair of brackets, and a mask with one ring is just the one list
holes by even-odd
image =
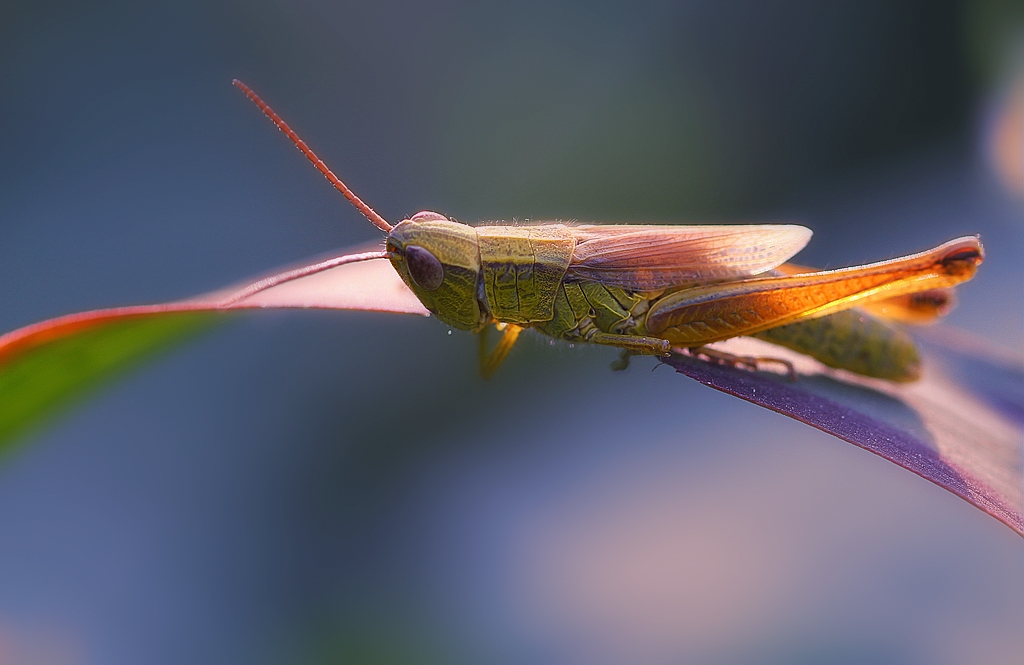
[[[481, 331], [494, 323], [529, 327], [558, 339], [616, 346], [636, 354], [666, 354], [672, 329], [657, 335], [647, 315], [671, 309], [672, 297], [696, 285], [638, 292], [567, 276], [575, 239], [570, 227], [468, 226], [436, 213], [397, 224], [388, 257], [423, 304], [444, 323]], [[426, 249], [440, 268], [412, 265]], [[420, 261], [422, 263], [422, 260]], [[430, 279], [433, 269], [443, 278]], [[668, 303], [667, 306], [660, 306]], [[755, 336], [807, 354], [830, 367], [889, 380], [918, 376], [912, 340], [877, 319], [846, 310], [758, 332]]]

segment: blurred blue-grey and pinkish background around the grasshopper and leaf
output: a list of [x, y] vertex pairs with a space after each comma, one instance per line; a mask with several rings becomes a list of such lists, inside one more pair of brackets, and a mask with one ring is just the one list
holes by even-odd
[[[238, 77], [391, 220], [794, 220], [824, 267], [981, 234], [950, 321], [1021, 348], [1021, 18], [5, 0], [0, 328], [378, 237]], [[482, 382], [365, 313], [189, 342], [0, 465], [0, 662], [1020, 662], [1009, 529], [614, 358], [535, 337]]]

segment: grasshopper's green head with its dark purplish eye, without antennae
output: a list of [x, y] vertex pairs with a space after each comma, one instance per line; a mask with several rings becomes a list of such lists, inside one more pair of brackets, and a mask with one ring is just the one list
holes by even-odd
[[400, 221], [387, 237], [387, 256], [420, 302], [444, 323], [478, 330], [480, 250], [476, 230], [436, 212]]

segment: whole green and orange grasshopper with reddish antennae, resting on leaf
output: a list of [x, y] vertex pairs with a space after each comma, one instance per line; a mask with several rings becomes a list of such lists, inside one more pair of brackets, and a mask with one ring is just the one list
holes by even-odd
[[471, 226], [423, 211], [392, 225], [252, 89], [238, 80], [234, 85], [387, 239], [382, 251], [283, 273], [231, 300], [342, 263], [387, 258], [440, 321], [474, 333], [492, 325], [503, 331], [490, 350], [480, 335], [484, 376], [531, 328], [569, 342], [617, 347], [623, 359], [616, 368], [631, 355], [679, 351], [753, 368], [773, 361], [708, 347], [750, 335], [831, 367], [910, 381], [919, 375], [912, 339], [865, 309], [904, 320], [938, 317], [950, 302], [949, 289], [970, 280], [983, 259], [980, 241], [969, 236], [878, 263], [802, 268], [785, 261], [811, 231], [794, 224]]

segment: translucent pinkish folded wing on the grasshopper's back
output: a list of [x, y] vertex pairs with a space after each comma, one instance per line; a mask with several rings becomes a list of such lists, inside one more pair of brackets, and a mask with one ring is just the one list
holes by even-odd
[[566, 277], [634, 291], [760, 275], [811, 239], [794, 224], [569, 228], [577, 246]]

